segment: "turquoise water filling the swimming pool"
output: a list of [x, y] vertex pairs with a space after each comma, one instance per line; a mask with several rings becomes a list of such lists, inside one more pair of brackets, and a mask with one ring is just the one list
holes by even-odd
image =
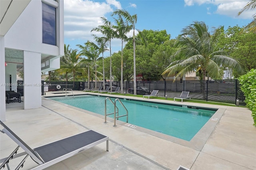
[[[83, 95], [75, 96], [75, 98], [51, 97], [50, 99], [100, 115], [105, 113], [106, 97]], [[112, 98], [113, 102], [114, 100], [115, 98]], [[192, 109], [186, 106], [180, 107], [142, 101], [120, 100], [128, 110], [128, 123], [188, 141], [193, 138], [216, 112], [214, 110]], [[126, 114], [126, 111], [119, 102], [117, 107], [119, 115]], [[113, 112], [113, 104], [107, 101], [107, 113]], [[113, 118], [114, 115], [109, 117]], [[119, 120], [126, 122], [126, 117], [120, 117]]]

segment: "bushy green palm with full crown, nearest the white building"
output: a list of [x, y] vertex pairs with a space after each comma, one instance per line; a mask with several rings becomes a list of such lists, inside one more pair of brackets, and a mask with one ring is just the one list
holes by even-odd
[[73, 88], [75, 87], [76, 73], [85, 73], [86, 66], [81, 62], [80, 54], [77, 54], [77, 49], [71, 50], [70, 56], [60, 61], [60, 69], [64, 72], [72, 73], [73, 76]]

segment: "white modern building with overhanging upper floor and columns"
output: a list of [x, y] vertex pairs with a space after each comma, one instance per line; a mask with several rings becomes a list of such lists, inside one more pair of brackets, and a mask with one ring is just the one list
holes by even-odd
[[6, 120], [5, 91], [17, 91], [24, 72], [24, 109], [42, 106], [41, 72], [60, 68], [64, 55], [63, 0], [0, 1], [0, 120]]

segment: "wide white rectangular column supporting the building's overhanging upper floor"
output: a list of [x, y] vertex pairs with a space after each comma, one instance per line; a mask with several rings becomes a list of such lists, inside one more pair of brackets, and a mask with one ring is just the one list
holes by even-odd
[[41, 53], [24, 51], [24, 109], [42, 107]]

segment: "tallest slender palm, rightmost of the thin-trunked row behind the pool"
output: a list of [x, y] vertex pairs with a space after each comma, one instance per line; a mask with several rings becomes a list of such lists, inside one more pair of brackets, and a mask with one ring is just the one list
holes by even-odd
[[144, 38], [142, 32], [138, 29], [135, 28], [135, 25], [137, 23], [137, 14], [134, 15], [130, 15], [128, 11], [126, 10], [115, 10], [113, 12], [113, 15], [120, 15], [122, 17], [124, 17], [124, 19], [126, 19], [126, 21], [128, 23], [131, 24], [132, 26], [132, 30], [133, 30], [133, 37], [132, 37], [132, 41], [133, 41], [133, 77], [134, 77], [134, 95], [137, 95], [136, 93], [136, 56], [135, 56], [135, 30], [138, 31], [138, 36], [140, 36], [142, 38], [142, 41], [145, 43], [146, 45], [146, 39]]

